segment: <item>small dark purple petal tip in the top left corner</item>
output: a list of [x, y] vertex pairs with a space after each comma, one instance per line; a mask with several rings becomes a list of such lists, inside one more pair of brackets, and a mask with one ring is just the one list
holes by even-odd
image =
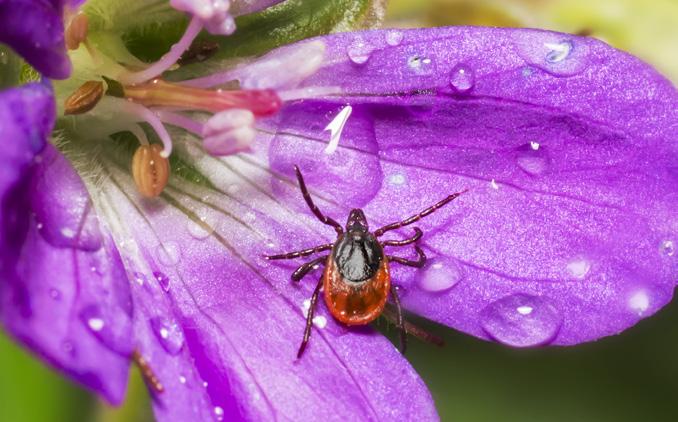
[[0, 42], [10, 45], [47, 77], [71, 73], [64, 44], [65, 0], [0, 0]]

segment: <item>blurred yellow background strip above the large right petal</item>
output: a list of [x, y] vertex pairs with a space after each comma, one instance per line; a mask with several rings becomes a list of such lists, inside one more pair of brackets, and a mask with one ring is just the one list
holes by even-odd
[[391, 0], [385, 26], [484, 25], [586, 33], [678, 81], [678, 0]]

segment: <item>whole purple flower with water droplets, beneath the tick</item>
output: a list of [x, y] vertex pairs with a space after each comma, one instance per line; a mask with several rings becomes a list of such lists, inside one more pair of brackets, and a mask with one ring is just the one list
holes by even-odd
[[[320, 273], [292, 285], [301, 262], [262, 255], [334, 232], [303, 203], [294, 164], [326, 214], [362, 207], [372, 227], [468, 189], [419, 224], [427, 266], [392, 277], [407, 309], [471, 335], [577, 344], [670, 300], [678, 95], [636, 58], [546, 31], [386, 30], [153, 82], [207, 21], [223, 29], [221, 9], [181, 10], [188, 35], [153, 71], [102, 68], [134, 102], [59, 112], [68, 161], [46, 143], [45, 85], [0, 94], [0, 139], [13, 140], [0, 155], [3, 324], [110, 401], [135, 358], [159, 420], [437, 418], [385, 338], [324, 306], [295, 359]], [[86, 54], [73, 53], [76, 74]], [[168, 110], [177, 93], [184, 107]], [[174, 160], [158, 198], [128, 167], [147, 142], [139, 121]]]

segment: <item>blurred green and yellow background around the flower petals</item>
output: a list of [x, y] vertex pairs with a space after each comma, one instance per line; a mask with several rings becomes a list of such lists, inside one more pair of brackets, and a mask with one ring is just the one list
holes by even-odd
[[[496, 25], [586, 32], [678, 80], [678, 0], [392, 0], [386, 26]], [[676, 421], [678, 304], [625, 333], [572, 348], [512, 350], [428, 325], [446, 347], [408, 358], [443, 421]], [[387, 334], [395, 334], [388, 330]], [[403, 394], [399, 392], [399, 394]], [[0, 421], [151, 421], [135, 372], [113, 409], [0, 333]]]

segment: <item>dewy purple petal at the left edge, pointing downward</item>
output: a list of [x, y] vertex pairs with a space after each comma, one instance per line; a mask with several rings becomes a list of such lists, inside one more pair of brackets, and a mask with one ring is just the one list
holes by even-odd
[[79, 177], [45, 146], [53, 116], [43, 85], [0, 94], [0, 319], [40, 357], [119, 403], [133, 348], [129, 285]]

